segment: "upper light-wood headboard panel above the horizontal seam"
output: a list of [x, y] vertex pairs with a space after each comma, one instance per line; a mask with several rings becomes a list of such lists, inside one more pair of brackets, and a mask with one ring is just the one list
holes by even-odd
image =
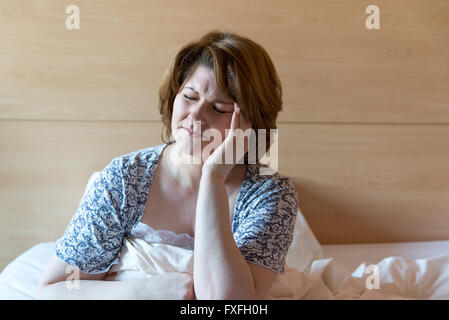
[[[80, 30], [65, 7], [80, 8]], [[0, 117], [159, 120], [157, 88], [212, 28], [254, 39], [284, 86], [287, 122], [449, 123], [449, 2], [2, 1]]]

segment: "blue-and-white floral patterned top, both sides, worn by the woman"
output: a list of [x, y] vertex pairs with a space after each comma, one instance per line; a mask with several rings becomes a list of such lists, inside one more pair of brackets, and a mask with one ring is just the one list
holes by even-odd
[[[123, 239], [143, 215], [160, 155], [170, 143], [116, 157], [100, 172], [56, 241], [56, 255], [62, 261], [85, 273], [103, 273], [118, 263]], [[248, 262], [284, 273], [298, 194], [290, 178], [260, 175], [260, 166], [248, 165], [232, 233]]]

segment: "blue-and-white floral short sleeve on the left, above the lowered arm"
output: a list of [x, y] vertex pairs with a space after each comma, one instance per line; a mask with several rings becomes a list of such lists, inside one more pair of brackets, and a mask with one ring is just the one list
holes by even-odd
[[56, 255], [85, 273], [102, 273], [118, 263], [126, 223], [121, 161], [112, 160], [88, 186], [63, 236]]

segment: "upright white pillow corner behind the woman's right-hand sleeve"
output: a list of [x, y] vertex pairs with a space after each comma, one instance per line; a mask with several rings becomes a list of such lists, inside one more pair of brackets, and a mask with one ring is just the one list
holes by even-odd
[[298, 271], [310, 272], [314, 260], [323, 258], [323, 248], [313, 234], [306, 219], [298, 209], [293, 241], [288, 249], [287, 267]]

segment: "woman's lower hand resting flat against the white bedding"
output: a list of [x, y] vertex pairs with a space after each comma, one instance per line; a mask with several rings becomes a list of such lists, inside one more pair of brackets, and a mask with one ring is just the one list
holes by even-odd
[[169, 272], [139, 281], [139, 298], [143, 300], [196, 299], [191, 273]]

